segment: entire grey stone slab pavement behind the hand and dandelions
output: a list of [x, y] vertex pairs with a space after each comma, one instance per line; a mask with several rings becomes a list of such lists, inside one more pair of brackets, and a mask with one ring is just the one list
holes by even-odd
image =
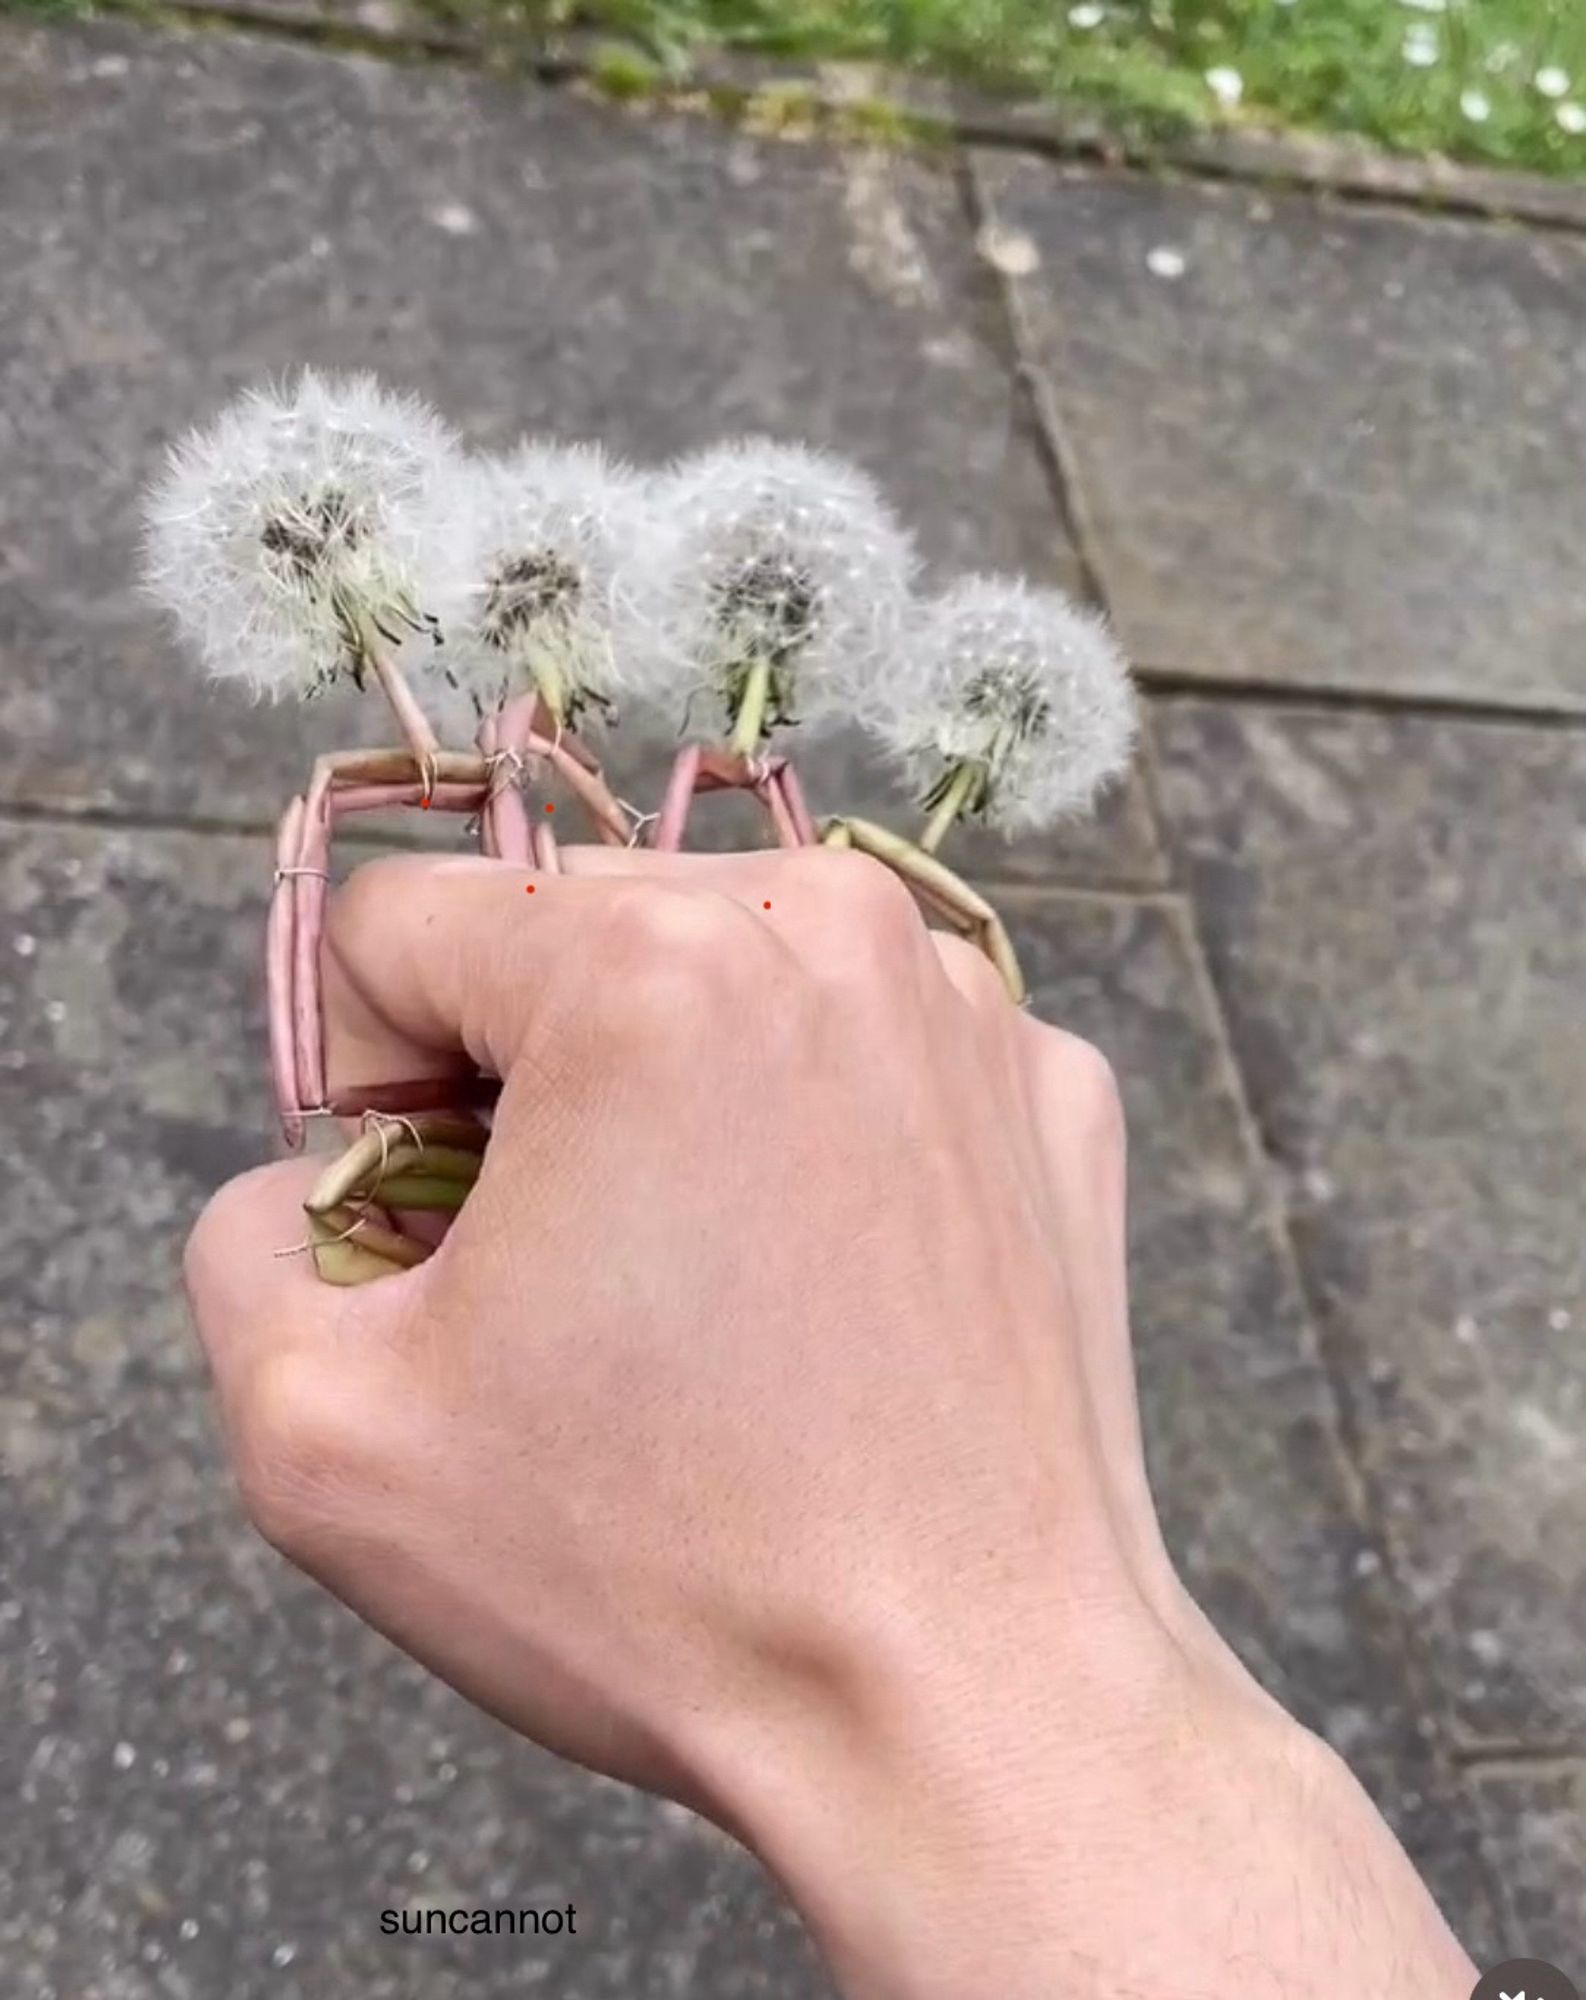
[[[218, 1466], [174, 1258], [268, 1150], [260, 828], [350, 718], [198, 690], [128, 576], [162, 442], [302, 360], [480, 444], [808, 436], [934, 560], [1108, 602], [1140, 770], [972, 860], [1124, 1078], [1176, 1556], [1472, 1952], [1586, 1974], [1584, 334], [1566, 232], [0, 22], [8, 1994], [826, 1990], [748, 1862], [410, 1670]], [[850, 744], [808, 776], [886, 810]], [[378, 1936], [508, 1896], [586, 1934]]]

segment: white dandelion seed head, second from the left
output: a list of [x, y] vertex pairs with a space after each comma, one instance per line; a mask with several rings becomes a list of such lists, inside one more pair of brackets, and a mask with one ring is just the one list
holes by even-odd
[[534, 686], [562, 722], [610, 708], [644, 532], [644, 480], [592, 444], [522, 444], [436, 484], [438, 666], [476, 714]]

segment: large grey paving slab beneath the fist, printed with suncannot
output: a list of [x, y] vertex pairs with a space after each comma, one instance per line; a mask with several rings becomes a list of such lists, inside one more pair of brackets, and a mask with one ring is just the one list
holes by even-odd
[[[38, 1160], [0, 1240], [12, 1984], [24, 2000], [822, 1992], [742, 1858], [474, 1716], [236, 1512], [176, 1258], [214, 1182], [266, 1152], [262, 858], [236, 838], [0, 822], [0, 1118], [30, 1122]], [[1178, 1558], [1484, 1950], [1474, 1814], [1404, 1682], [1182, 912], [1026, 892], [1012, 916], [1038, 1008], [1124, 1072], [1144, 1404]], [[398, 1948], [378, 1912], [410, 1896], [572, 1900], [588, 1936]]]

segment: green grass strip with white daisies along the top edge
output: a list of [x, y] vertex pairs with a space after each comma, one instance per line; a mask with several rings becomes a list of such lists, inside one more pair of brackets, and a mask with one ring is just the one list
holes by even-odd
[[[526, 32], [608, 28], [664, 66], [716, 44], [876, 58], [1130, 132], [1228, 122], [1586, 174], [1586, 0], [428, 0]], [[1422, 52], [1432, 60], [1416, 62]], [[1556, 78], [1562, 94], [1548, 94]], [[1218, 98], [1218, 72], [1232, 72]], [[1212, 78], [1208, 82], [1208, 76]], [[1538, 88], [1538, 76], [1542, 86]]]

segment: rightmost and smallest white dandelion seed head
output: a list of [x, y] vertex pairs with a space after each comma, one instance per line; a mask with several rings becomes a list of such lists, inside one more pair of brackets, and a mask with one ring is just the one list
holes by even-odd
[[922, 606], [870, 720], [934, 804], [978, 774], [972, 810], [1004, 834], [1086, 812], [1130, 760], [1134, 686], [1092, 612], [1058, 590], [970, 576]]

